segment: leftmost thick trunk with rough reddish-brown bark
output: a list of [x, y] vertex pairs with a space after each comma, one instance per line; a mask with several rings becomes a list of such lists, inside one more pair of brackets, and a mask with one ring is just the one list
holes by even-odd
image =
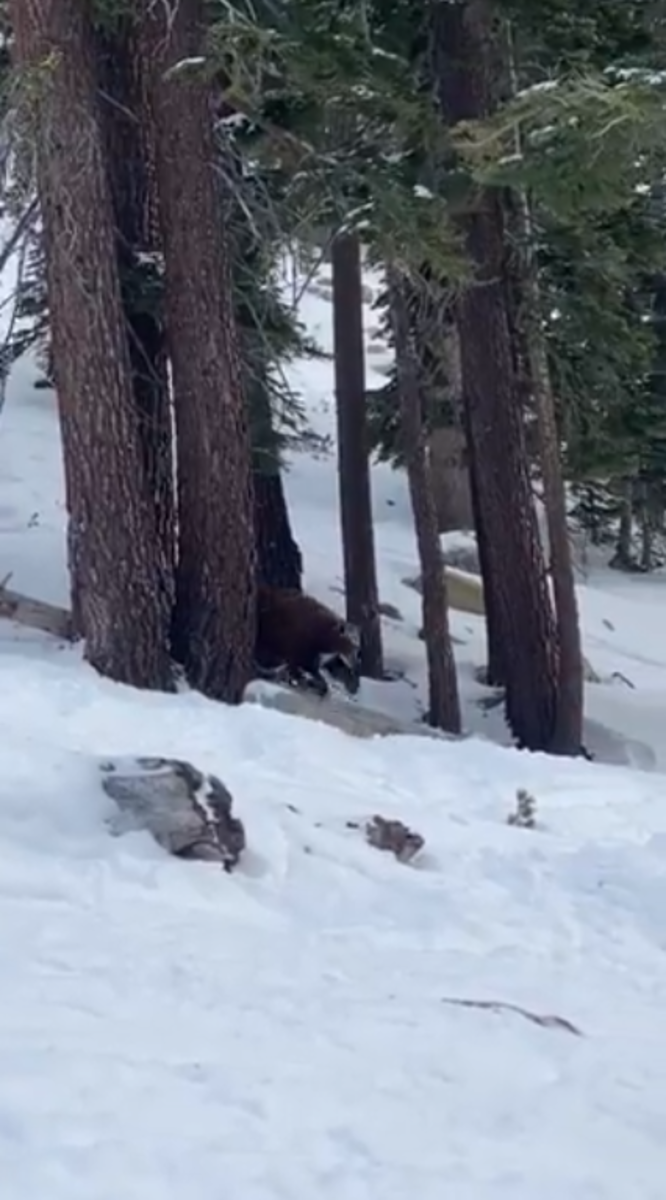
[[11, 5], [19, 62], [35, 80], [72, 601], [94, 667], [166, 688], [168, 612], [132, 403], [86, 10], [83, 0]]

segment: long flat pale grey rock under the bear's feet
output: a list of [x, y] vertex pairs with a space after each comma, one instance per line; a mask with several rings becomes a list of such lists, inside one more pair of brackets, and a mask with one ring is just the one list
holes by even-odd
[[311, 692], [299, 691], [295, 688], [281, 688], [263, 680], [253, 680], [246, 688], [244, 700], [250, 704], [275, 708], [289, 716], [301, 716], [306, 721], [322, 721], [353, 738], [401, 734], [416, 738], [439, 738], [446, 742], [460, 740], [460, 736], [454, 733], [445, 733], [444, 730], [433, 730], [427, 725], [416, 725], [412, 721], [398, 721], [373, 708], [365, 708], [355, 701], [350, 702], [335, 695], [320, 700]]

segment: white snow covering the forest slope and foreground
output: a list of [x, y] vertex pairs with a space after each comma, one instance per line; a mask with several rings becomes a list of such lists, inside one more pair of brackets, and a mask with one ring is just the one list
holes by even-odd
[[[330, 348], [326, 294], [304, 311]], [[0, 575], [66, 604], [58, 426], [34, 377], [17, 365], [0, 424]], [[293, 379], [332, 437], [330, 362]], [[307, 584], [340, 604], [335, 462], [294, 455], [287, 482]], [[424, 652], [404, 480], [376, 467], [373, 497], [406, 678], [362, 698], [408, 719]], [[661, 1200], [665, 588], [594, 564], [581, 582], [605, 680], [587, 690], [594, 764], [508, 748], [463, 613], [460, 743], [137, 692], [1, 623], [4, 1200]], [[236, 872], [110, 836], [97, 762], [136, 754], [223, 779], [250, 847]], [[533, 830], [508, 823], [518, 788]], [[413, 866], [366, 845], [374, 812], [425, 836]]]

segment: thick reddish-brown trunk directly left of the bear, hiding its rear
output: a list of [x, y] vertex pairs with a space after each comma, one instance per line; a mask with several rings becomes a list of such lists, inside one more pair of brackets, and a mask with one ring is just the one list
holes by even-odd
[[239, 702], [256, 620], [248, 419], [203, 53], [203, 0], [140, 0], [164, 248], [178, 454], [174, 650], [190, 683]]

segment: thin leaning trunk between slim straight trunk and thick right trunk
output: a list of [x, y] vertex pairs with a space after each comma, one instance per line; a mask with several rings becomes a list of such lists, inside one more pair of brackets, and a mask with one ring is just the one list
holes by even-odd
[[444, 562], [421, 415], [419, 366], [409, 329], [403, 280], [396, 268], [389, 269], [389, 304], [396, 347], [402, 444], [421, 565], [424, 638], [428, 665], [428, 721], [436, 728], [460, 733], [456, 664], [449, 632]]

